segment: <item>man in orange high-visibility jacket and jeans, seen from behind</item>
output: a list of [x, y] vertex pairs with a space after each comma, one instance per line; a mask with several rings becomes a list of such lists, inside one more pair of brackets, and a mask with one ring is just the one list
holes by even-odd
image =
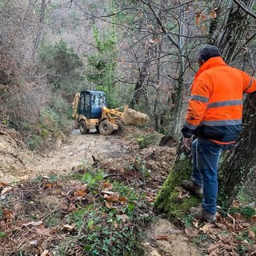
[[[243, 93], [256, 91], [256, 81], [242, 70], [227, 66], [215, 46], [203, 46], [197, 54], [199, 70], [191, 87], [191, 98], [182, 127], [183, 146], [193, 154], [191, 180], [186, 190], [201, 196], [202, 208], [194, 217], [216, 219], [218, 160], [230, 149], [242, 129]], [[198, 138], [192, 142], [193, 134]]]

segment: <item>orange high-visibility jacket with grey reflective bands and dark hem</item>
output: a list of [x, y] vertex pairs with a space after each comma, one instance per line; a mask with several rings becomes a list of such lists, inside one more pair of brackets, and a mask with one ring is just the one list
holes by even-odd
[[242, 129], [243, 93], [256, 91], [256, 81], [227, 66], [221, 57], [207, 60], [195, 75], [182, 134], [219, 143], [234, 142]]

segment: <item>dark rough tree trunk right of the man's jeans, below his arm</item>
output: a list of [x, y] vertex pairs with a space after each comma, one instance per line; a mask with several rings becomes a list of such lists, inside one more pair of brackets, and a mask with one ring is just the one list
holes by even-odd
[[219, 205], [227, 210], [251, 172], [256, 168], [256, 93], [249, 94], [243, 113], [243, 130], [234, 150], [219, 168]]

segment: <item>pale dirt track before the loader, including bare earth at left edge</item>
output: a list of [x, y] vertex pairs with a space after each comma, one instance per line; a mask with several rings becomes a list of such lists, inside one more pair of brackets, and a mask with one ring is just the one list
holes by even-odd
[[82, 135], [73, 130], [65, 142], [58, 141], [55, 150], [48, 149], [39, 155], [22, 149], [14, 134], [6, 133], [0, 136], [0, 181], [18, 182], [38, 175], [67, 174], [79, 164], [92, 163], [92, 156], [102, 160], [126, 154], [123, 144], [124, 140], [117, 135]]

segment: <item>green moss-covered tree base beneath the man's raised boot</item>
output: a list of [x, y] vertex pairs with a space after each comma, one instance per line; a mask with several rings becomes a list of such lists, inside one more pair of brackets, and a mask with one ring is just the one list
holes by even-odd
[[183, 179], [189, 179], [192, 170], [192, 155], [178, 146], [177, 157], [170, 174], [166, 178], [162, 189], [155, 200], [155, 207], [170, 217], [181, 218], [191, 206], [197, 206], [200, 200], [193, 195], [190, 198], [179, 199], [179, 191], [175, 188], [181, 186]]

